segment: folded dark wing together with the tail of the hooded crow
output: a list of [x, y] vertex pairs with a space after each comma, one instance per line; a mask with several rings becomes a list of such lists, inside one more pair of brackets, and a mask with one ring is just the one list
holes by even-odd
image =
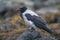
[[52, 31], [49, 28], [47, 28], [47, 23], [40, 17], [35, 15], [32, 16], [30, 14], [26, 14], [25, 16], [27, 17], [28, 20], [32, 21], [38, 28], [43, 29], [49, 33], [52, 33]]

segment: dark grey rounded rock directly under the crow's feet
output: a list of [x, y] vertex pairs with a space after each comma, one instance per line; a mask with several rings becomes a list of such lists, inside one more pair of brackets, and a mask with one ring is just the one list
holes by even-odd
[[34, 30], [26, 30], [16, 40], [40, 40], [40, 33]]

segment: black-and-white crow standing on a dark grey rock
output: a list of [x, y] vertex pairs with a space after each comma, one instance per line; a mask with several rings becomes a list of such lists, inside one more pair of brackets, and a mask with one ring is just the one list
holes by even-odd
[[27, 7], [22, 7], [18, 8], [17, 11], [20, 12], [20, 16], [32, 29], [39, 28], [49, 32], [50, 34], [53, 33], [51, 29], [47, 27], [47, 23], [32, 10], [28, 9]]

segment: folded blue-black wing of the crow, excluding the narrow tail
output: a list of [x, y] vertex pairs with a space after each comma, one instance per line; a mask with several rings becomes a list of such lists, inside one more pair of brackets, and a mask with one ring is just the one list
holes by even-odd
[[35, 24], [35, 26], [37, 27], [41, 26], [41, 28], [46, 27], [47, 23], [44, 20], [42, 20], [40, 17], [35, 15], [32, 16], [30, 14], [26, 14], [25, 16], [27, 17], [28, 20], [32, 21]]

